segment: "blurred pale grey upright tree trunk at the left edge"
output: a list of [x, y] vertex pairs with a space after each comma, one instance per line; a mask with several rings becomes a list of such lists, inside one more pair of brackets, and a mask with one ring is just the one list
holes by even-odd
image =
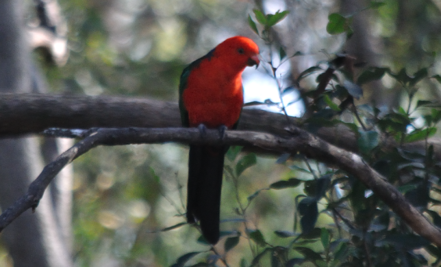
[[[31, 57], [21, 8], [21, 1], [0, 1], [0, 92], [31, 92]], [[40, 173], [42, 161], [36, 137], [0, 140], [1, 207], [7, 208], [25, 193]], [[25, 212], [5, 229], [2, 237], [14, 266], [73, 265], [70, 238], [62, 234], [64, 229], [55, 214], [51, 193], [47, 192], [34, 214]]]

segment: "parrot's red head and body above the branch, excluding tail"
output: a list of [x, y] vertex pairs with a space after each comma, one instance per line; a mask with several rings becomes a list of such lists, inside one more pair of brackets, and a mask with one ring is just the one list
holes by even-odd
[[183, 93], [189, 126], [231, 128], [243, 104], [242, 72], [259, 64], [259, 48], [249, 38], [236, 36], [218, 44], [188, 76]]

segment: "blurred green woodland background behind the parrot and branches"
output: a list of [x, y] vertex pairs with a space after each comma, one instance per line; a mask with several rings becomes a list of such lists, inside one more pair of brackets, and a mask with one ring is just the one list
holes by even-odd
[[[48, 94], [177, 101], [179, 75], [185, 66], [236, 35], [255, 40], [263, 59], [257, 70], [247, 68], [244, 72], [245, 102], [278, 103], [281, 91], [294, 85], [289, 94], [283, 94], [283, 102], [288, 106], [287, 113], [297, 117], [303, 115], [305, 105], [295, 79], [312, 66], [327, 67], [327, 61], [336, 53], [347, 53], [363, 66], [388, 66], [394, 71], [406, 68], [410, 74], [423, 67], [431, 68], [433, 73], [441, 71], [440, 0], [386, 0], [380, 8], [368, 10], [364, 8], [370, 1], [365, 0], [9, 2], [10, 8], [3, 12], [14, 12], [17, 23], [25, 25], [23, 31], [27, 32], [23, 33], [23, 40], [30, 42], [34, 50], [28, 60], [33, 62], [30, 72], [39, 77], [32, 79], [38, 83], [34, 86], [44, 88], [43, 92]], [[50, 49], [33, 39], [35, 29], [42, 25], [38, 7], [45, 5], [58, 5], [61, 21], [53, 31], [60, 42]], [[264, 14], [275, 14], [278, 10], [290, 12], [271, 28], [271, 43], [262, 40], [249, 26], [249, 16], [257, 21], [253, 9]], [[327, 32], [328, 15], [333, 12], [355, 14], [351, 38], [344, 33]], [[260, 25], [258, 29], [262, 33]], [[0, 33], [4, 31], [0, 29]], [[3, 42], [1, 38], [0, 42]], [[283, 62], [280, 48], [288, 55]], [[48, 50], [52, 55], [48, 56]], [[297, 52], [302, 55], [289, 57]], [[273, 66], [283, 64], [274, 76], [265, 61], [272, 61]], [[301, 87], [315, 87], [316, 76], [303, 79]], [[439, 85], [429, 84], [428, 88], [425, 97], [439, 100]], [[405, 102], [403, 94], [396, 81], [384, 76], [364, 87], [364, 97], [358, 103], [375, 103], [391, 109]], [[280, 107], [272, 104], [251, 108], [281, 112]], [[36, 139], [35, 143], [37, 150], [47, 141]], [[60, 144], [58, 149], [62, 152]], [[247, 155], [231, 156], [225, 164], [234, 168]], [[279, 180], [314, 177], [305, 171], [311, 166], [303, 160], [277, 164], [277, 158], [257, 155], [257, 164], [240, 177], [225, 175], [220, 217], [221, 230], [227, 235], [244, 231], [246, 219], [249, 229], [260, 229], [266, 242], [279, 245], [289, 242], [274, 231], [294, 231], [294, 199], [303, 192], [303, 186], [279, 191], [262, 189]], [[73, 262], [65, 266], [171, 266], [182, 255], [194, 251], [207, 253], [192, 257], [189, 266], [216, 259], [215, 253], [208, 252], [210, 246], [197, 241], [200, 233], [196, 228], [179, 225], [186, 221], [187, 160], [188, 147], [175, 143], [97, 147], [75, 160], [64, 193], [71, 190], [73, 206], [72, 214], [66, 215], [72, 216], [68, 227], [72, 227], [73, 236], [63, 239], [71, 240], [72, 247], [66, 251], [71, 253]], [[318, 163], [312, 169], [326, 171]], [[260, 193], [253, 195], [257, 191]], [[247, 206], [251, 195], [253, 200]], [[1, 205], [3, 209], [6, 207], [5, 202]], [[66, 205], [64, 209], [70, 210], [69, 200]], [[237, 212], [240, 206], [247, 206], [246, 214]], [[319, 209], [323, 206], [320, 203]], [[329, 215], [320, 213], [317, 226], [332, 222]], [[177, 227], [167, 229], [174, 225]], [[224, 253], [223, 240], [216, 246], [219, 255]], [[42, 255], [46, 257], [56, 254], [45, 253]], [[256, 253], [255, 245], [240, 238], [238, 246], [226, 258], [229, 266], [249, 266]], [[19, 266], [18, 257], [20, 252], [12, 253], [7, 240], [0, 243], [0, 266]], [[57, 265], [47, 260], [34, 266]], [[225, 264], [218, 262], [218, 266]]]

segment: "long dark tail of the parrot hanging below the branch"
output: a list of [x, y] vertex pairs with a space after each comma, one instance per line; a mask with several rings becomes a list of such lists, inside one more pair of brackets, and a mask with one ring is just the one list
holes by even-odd
[[220, 190], [225, 146], [190, 145], [188, 158], [187, 221], [199, 221], [210, 244], [219, 240]]

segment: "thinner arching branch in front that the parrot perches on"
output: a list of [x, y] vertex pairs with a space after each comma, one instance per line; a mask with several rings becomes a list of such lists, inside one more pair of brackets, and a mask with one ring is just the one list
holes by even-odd
[[217, 130], [207, 130], [201, 138], [196, 128], [125, 128], [99, 129], [79, 141], [70, 150], [61, 154], [43, 169], [29, 186], [27, 194], [0, 216], [0, 231], [28, 208], [36, 208], [45, 189], [55, 175], [72, 160], [97, 145], [127, 145], [130, 143], [206, 143], [229, 145], [251, 145], [275, 152], [301, 152], [310, 158], [332, 163], [351, 173], [368, 186], [384, 203], [398, 214], [420, 236], [441, 247], [441, 231], [410, 205], [392, 184], [367, 165], [357, 154], [330, 145], [322, 139], [301, 130], [292, 130], [292, 137], [279, 137], [264, 132], [226, 131], [220, 140]]

